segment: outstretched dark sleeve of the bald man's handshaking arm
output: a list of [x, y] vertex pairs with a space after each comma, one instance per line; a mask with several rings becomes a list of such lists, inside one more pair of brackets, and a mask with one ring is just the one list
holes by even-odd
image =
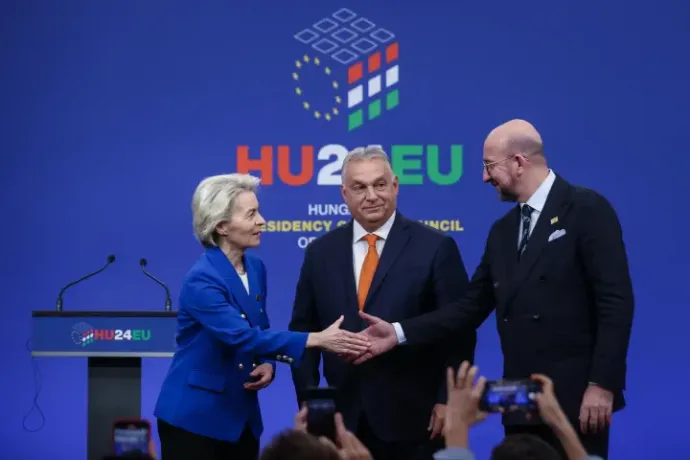
[[[493, 231], [492, 231], [493, 232]], [[465, 296], [450, 300], [442, 308], [415, 318], [400, 321], [405, 334], [405, 346], [430, 345], [452, 341], [458, 334], [476, 329], [491, 314], [495, 306], [489, 250], [491, 234], [477, 270], [472, 276]]]

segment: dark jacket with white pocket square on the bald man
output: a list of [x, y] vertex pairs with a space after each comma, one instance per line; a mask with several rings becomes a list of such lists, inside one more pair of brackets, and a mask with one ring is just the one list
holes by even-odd
[[[622, 409], [634, 295], [615, 210], [557, 175], [518, 260], [519, 222], [515, 206], [494, 223], [462, 301], [400, 322], [407, 345], [474, 329], [495, 311], [505, 378], [548, 375], [575, 426], [590, 382], [613, 392], [614, 410]], [[515, 412], [503, 422], [540, 420]]]

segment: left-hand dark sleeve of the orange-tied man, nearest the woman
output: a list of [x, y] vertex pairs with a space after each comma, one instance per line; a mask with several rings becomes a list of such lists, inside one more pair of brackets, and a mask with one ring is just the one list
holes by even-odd
[[[316, 310], [316, 300], [314, 298], [314, 285], [312, 281], [312, 267], [310, 247], [304, 253], [304, 261], [300, 270], [299, 280], [295, 292], [295, 303], [292, 307], [292, 317], [288, 329], [299, 332], [318, 332], [321, 330], [318, 313]], [[300, 406], [304, 401], [304, 391], [311, 386], [319, 386], [321, 375], [319, 365], [321, 364], [321, 351], [316, 348], [309, 348], [304, 351], [299, 366], [293, 366], [292, 383], [295, 387], [297, 404]]]

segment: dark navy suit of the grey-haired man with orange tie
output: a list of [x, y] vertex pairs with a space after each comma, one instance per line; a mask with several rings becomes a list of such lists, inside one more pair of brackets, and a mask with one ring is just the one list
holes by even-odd
[[[367, 325], [358, 315], [353, 264], [353, 223], [338, 227], [307, 246], [297, 284], [289, 329], [313, 332], [340, 315], [343, 329]], [[469, 281], [455, 240], [399, 211], [386, 240], [364, 304], [364, 311], [396, 322], [459, 301]], [[320, 381], [338, 388], [338, 406], [346, 426], [357, 430], [365, 414], [374, 433], [387, 442], [429, 439], [435, 404], [445, 404], [446, 366], [473, 361], [476, 332], [468, 330], [428, 347], [396, 347], [362, 365], [333, 353], [309, 349], [293, 366], [298, 402]]]

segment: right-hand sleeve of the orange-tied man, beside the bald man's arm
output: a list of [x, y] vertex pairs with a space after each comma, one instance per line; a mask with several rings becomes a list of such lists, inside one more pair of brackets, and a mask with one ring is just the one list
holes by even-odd
[[[451, 237], [445, 237], [434, 258], [433, 266], [434, 295], [436, 309], [452, 302], [460, 301], [467, 293], [469, 278], [462, 256], [458, 250], [458, 245]], [[457, 334], [444, 349], [447, 353], [446, 367], [458, 369], [460, 364], [467, 360], [474, 361], [474, 348], [477, 344], [477, 333], [475, 330], [468, 329], [466, 332]], [[446, 389], [446, 374], [441, 372], [439, 375], [439, 389], [436, 401], [439, 404], [446, 404], [448, 391]]]

